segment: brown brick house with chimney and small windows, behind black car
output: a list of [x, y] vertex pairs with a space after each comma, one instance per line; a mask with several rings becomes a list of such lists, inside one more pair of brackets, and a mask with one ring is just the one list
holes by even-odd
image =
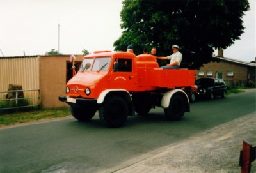
[[199, 70], [195, 70], [196, 79], [216, 77], [225, 80], [228, 87], [255, 87], [256, 63], [223, 57], [223, 50], [218, 50], [218, 56], [214, 56], [214, 58], [217, 62], [204, 64]]

